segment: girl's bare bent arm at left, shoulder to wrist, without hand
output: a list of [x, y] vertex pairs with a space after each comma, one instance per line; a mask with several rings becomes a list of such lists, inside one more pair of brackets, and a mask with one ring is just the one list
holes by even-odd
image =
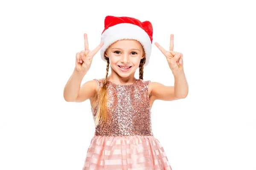
[[[86, 73], [85, 73], [86, 74]], [[81, 81], [85, 74], [81, 74], [76, 70], [73, 71], [70, 79], [64, 88], [64, 99], [67, 102], [83, 102], [95, 96], [97, 82], [94, 80], [85, 82], [81, 87]]]

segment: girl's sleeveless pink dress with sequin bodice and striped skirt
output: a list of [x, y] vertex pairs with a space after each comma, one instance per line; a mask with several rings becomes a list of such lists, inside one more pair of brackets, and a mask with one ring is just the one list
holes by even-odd
[[[105, 79], [94, 79], [99, 90]], [[165, 151], [151, 129], [148, 85], [107, 83], [107, 122], [95, 127], [82, 170], [172, 170]], [[92, 108], [93, 118], [97, 113]]]

